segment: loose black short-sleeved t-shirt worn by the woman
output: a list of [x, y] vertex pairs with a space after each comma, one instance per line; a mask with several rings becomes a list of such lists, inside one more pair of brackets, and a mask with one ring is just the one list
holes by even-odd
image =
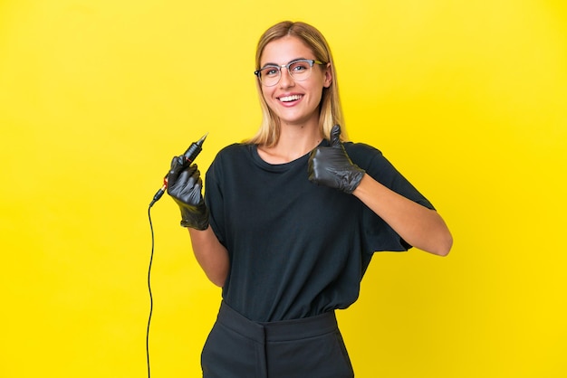
[[[378, 149], [344, 147], [375, 180], [433, 208]], [[349, 307], [374, 251], [410, 248], [354, 195], [312, 184], [308, 160], [309, 154], [271, 165], [255, 145], [235, 144], [222, 149], [207, 170], [211, 227], [230, 258], [223, 298], [251, 320]]]

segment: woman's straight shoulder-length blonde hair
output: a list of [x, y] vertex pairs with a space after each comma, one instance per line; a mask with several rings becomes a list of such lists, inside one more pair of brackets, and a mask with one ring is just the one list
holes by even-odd
[[[322, 33], [315, 29], [310, 24], [301, 22], [283, 21], [262, 34], [256, 47], [255, 66], [256, 69], [260, 68], [260, 59], [264, 48], [268, 43], [283, 38], [285, 36], [294, 36], [299, 38], [305, 43], [315, 55], [315, 59], [329, 63], [329, 68], [332, 70], [332, 82], [329, 88], [323, 88], [322, 99], [319, 106], [319, 129], [323, 136], [330, 138], [331, 128], [339, 124], [341, 125], [341, 139], [346, 139], [346, 132], [344, 131], [341, 100], [339, 98], [339, 87], [337, 84], [337, 71], [335, 70], [332, 60], [332, 53], [329, 44], [323, 37]], [[258, 144], [264, 146], [275, 146], [280, 137], [280, 120], [274, 114], [265, 102], [262, 95], [262, 84], [260, 80], [256, 80], [256, 89], [260, 98], [260, 106], [262, 108], [262, 123], [256, 135], [245, 143]]]

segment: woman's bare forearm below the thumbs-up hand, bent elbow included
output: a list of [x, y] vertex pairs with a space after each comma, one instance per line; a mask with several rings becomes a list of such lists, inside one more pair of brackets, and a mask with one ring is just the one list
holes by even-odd
[[370, 175], [363, 176], [352, 194], [410, 245], [439, 256], [446, 256], [451, 250], [453, 238], [436, 211], [391, 191]]

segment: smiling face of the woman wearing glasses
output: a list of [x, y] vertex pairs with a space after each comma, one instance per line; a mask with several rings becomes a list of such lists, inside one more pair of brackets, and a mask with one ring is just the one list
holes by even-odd
[[[260, 67], [266, 64], [287, 64], [296, 59], [315, 59], [315, 55], [299, 38], [285, 36], [264, 47]], [[262, 86], [264, 99], [280, 118], [282, 125], [315, 125], [319, 123], [322, 89], [329, 88], [332, 72], [327, 65], [313, 64], [311, 76], [295, 81], [283, 68], [280, 81], [273, 87]]]

